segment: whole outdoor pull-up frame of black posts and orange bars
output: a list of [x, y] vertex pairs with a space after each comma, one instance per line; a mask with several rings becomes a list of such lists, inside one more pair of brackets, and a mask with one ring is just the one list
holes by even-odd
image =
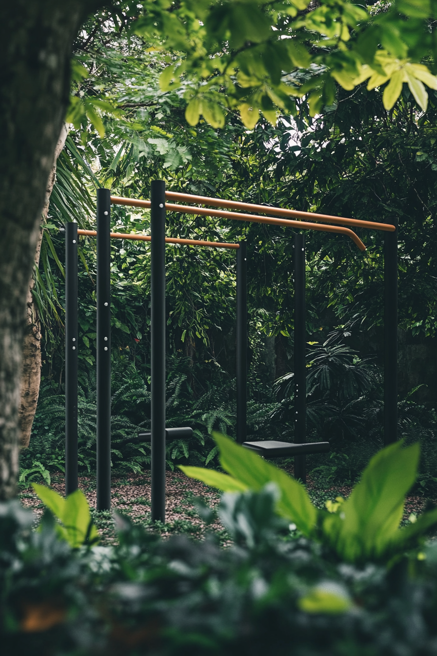
[[[335, 226], [318, 225], [311, 222], [301, 222], [287, 220], [284, 218], [267, 218], [259, 215], [246, 215], [242, 213], [210, 210], [202, 207], [185, 207], [184, 205], [173, 205], [166, 203], [166, 197], [180, 198], [181, 200], [195, 199], [196, 201], [209, 203], [221, 202], [225, 207], [237, 207], [238, 209], [255, 209], [263, 213], [278, 213], [279, 208], [269, 208], [264, 205], [247, 205], [237, 201], [220, 201], [219, 199], [208, 199], [206, 197], [196, 197], [189, 194], [178, 194], [176, 192], [165, 191], [165, 184], [162, 180], [154, 180], [151, 184], [151, 201], [138, 201], [130, 198], [111, 197], [109, 190], [99, 189], [97, 192], [97, 231], [77, 230], [77, 224], [66, 225], [66, 264], [67, 261], [75, 263], [71, 270], [75, 271], [75, 283], [69, 276], [66, 276], [66, 315], [75, 319], [75, 326], [66, 325], [66, 492], [67, 494], [77, 488], [77, 237], [80, 234], [97, 236], [97, 507], [98, 510], [109, 510], [111, 507], [111, 314], [110, 314], [110, 239], [134, 239], [138, 241], [151, 241], [151, 447], [152, 447], [152, 519], [164, 521], [165, 517], [165, 243], [185, 243], [189, 245], [205, 245], [208, 247], [236, 249], [237, 253], [237, 379], [246, 380], [246, 291], [241, 287], [240, 281], [246, 279], [246, 244], [227, 244], [219, 242], [200, 241], [195, 239], [176, 239], [165, 236], [165, 217], [166, 211], [178, 211], [181, 213], [201, 214], [206, 216], [220, 216], [222, 218], [231, 218], [235, 220], [244, 220], [250, 222], [259, 222], [273, 224], [278, 226], [290, 226], [298, 230], [318, 230], [323, 232], [332, 232], [343, 234], [351, 237], [358, 245], [360, 250], [365, 250], [365, 246], [358, 239], [358, 236], [349, 228], [339, 228]], [[210, 202], [211, 201], [211, 202]], [[145, 207], [151, 209], [151, 236], [136, 234], [121, 234], [110, 232], [110, 213], [111, 202], [117, 205], [130, 205], [134, 207]], [[244, 208], [242, 206], [245, 206]], [[284, 210], [286, 213], [294, 213], [293, 216], [305, 216], [305, 218], [315, 218], [316, 220], [333, 220], [335, 222], [353, 222], [359, 227], [373, 228], [376, 230], [386, 230], [387, 237], [390, 237], [390, 253], [394, 253], [397, 243], [396, 232], [390, 234], [395, 226], [385, 226], [385, 224], [376, 224], [373, 222], [355, 221], [354, 219], [343, 219], [341, 217], [330, 217], [328, 215], [313, 215], [311, 213], [296, 213], [294, 210]], [[288, 214], [290, 216], [290, 214]], [[381, 227], [384, 226], [384, 227]], [[304, 245], [299, 247], [299, 251], [304, 253]], [[390, 316], [390, 337], [393, 337], [393, 327], [396, 327], [397, 312], [397, 269], [396, 253], [390, 255], [390, 265], [388, 260], [385, 262], [385, 298], [386, 298], [386, 317], [387, 309], [394, 308], [393, 316]], [[305, 256], [300, 258], [305, 270]], [[386, 260], [386, 258], [385, 258]], [[67, 266], [66, 266], [67, 270]], [[238, 273], [240, 272], [240, 273]], [[388, 274], [389, 272], [389, 274]], [[305, 285], [305, 277], [302, 277]], [[389, 280], [389, 284], [387, 281]], [[303, 291], [305, 294], [305, 291]], [[387, 298], [390, 302], [387, 302]], [[391, 305], [390, 305], [391, 303]], [[305, 318], [303, 318], [305, 321]], [[69, 323], [66, 316], [66, 324]], [[239, 326], [239, 329], [238, 329]], [[305, 338], [304, 331], [302, 339]], [[387, 333], [385, 333], [387, 337]], [[385, 340], [387, 342], [387, 339]], [[243, 343], [244, 342], [244, 343]], [[394, 342], [396, 342], [396, 331], [394, 331]], [[302, 346], [305, 352], [305, 343]], [[391, 352], [391, 351], [390, 351]], [[396, 352], [396, 346], [392, 349], [392, 355]], [[304, 356], [305, 357], [305, 356]], [[385, 373], [387, 374], [388, 366]], [[391, 358], [391, 365], [394, 369], [394, 375], [390, 375], [390, 382], [396, 381], [396, 362]], [[67, 376], [67, 371], [71, 373]], [[391, 372], [393, 373], [393, 372]], [[387, 375], [385, 379], [388, 380]], [[385, 380], [385, 388], [387, 388]], [[246, 432], [246, 392], [243, 385], [237, 389], [237, 441], [244, 437]], [[299, 386], [302, 390], [299, 396], [305, 394], [305, 371], [303, 371], [303, 384]], [[394, 385], [396, 387], [396, 384]], [[237, 385], [238, 388], [238, 385]], [[391, 405], [396, 405], [396, 390], [392, 390]], [[238, 412], [238, 407], [241, 411]], [[396, 408], [392, 408], [390, 416], [387, 415], [385, 422], [386, 441], [387, 437], [392, 438], [396, 434]], [[304, 414], [304, 413], [303, 413]], [[70, 423], [71, 420], [71, 423]], [[387, 431], [387, 420], [390, 422], [391, 434]], [[303, 422], [305, 417], [303, 416]], [[244, 424], [244, 426], [243, 426]], [[394, 428], [393, 428], [394, 424]], [[243, 426], [241, 434], [238, 434], [238, 426]], [[71, 439], [70, 439], [71, 438]], [[396, 439], [396, 437], [394, 437]], [[73, 462], [75, 461], [75, 463]], [[75, 464], [75, 466], [74, 466]]]

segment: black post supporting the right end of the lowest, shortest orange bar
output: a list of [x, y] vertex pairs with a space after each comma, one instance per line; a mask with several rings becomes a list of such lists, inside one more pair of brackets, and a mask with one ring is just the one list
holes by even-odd
[[237, 442], [246, 441], [247, 432], [247, 249], [246, 241], [237, 250]]

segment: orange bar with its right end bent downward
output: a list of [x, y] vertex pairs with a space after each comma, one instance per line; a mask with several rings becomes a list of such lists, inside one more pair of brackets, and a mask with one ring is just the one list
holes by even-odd
[[[131, 205], [132, 207], [150, 207], [150, 201], [140, 201], [132, 198], [121, 198], [118, 196], [111, 196], [111, 203], [115, 205]], [[340, 228], [337, 226], [326, 226], [317, 223], [308, 223], [304, 221], [290, 221], [285, 218], [269, 218], [267, 216], [257, 216], [252, 214], [242, 214], [239, 212], [228, 212], [225, 210], [207, 209], [206, 207], [189, 207], [189, 205], [174, 205], [173, 203], [166, 203], [166, 209], [169, 212], [181, 212], [185, 214], [197, 214], [204, 216], [219, 216], [220, 218], [232, 218], [237, 221], [250, 221], [254, 223], [267, 223], [273, 226], [283, 226], [289, 228], [297, 228], [297, 230], [317, 230], [318, 232], [333, 232], [335, 234], [346, 235], [351, 237], [352, 241], [356, 243], [360, 251], [365, 251], [366, 246], [362, 243], [360, 237], [356, 235], [349, 228]], [[261, 205], [261, 207], [263, 207]], [[310, 215], [311, 216], [311, 215]]]

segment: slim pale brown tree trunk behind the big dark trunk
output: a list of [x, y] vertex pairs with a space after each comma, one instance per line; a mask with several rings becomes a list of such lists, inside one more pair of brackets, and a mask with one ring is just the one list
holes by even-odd
[[[39, 228], [37, 247], [35, 251], [35, 266], [38, 266], [39, 264], [39, 253], [41, 252], [41, 242], [43, 241], [43, 225], [47, 221], [50, 194], [52, 193], [54, 181], [56, 179], [56, 161], [62, 152], [62, 148], [64, 148], [67, 134], [67, 126], [64, 123], [61, 129], [60, 138], [56, 144], [52, 170], [50, 171], [47, 180], [45, 203], [41, 215], [41, 226]], [[37, 306], [32, 295], [34, 286], [35, 278], [32, 275], [28, 289], [28, 308], [22, 354], [23, 363], [20, 388], [20, 409], [18, 411], [21, 447], [29, 446], [33, 419], [35, 418], [38, 403], [39, 384], [41, 382], [41, 323], [39, 321]]]

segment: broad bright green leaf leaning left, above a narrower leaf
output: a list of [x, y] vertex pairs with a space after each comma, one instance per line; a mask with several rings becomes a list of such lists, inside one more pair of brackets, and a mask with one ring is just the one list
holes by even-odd
[[276, 483], [281, 493], [276, 504], [277, 512], [295, 522], [304, 535], [311, 535], [316, 525], [317, 510], [305, 487], [254, 451], [239, 446], [224, 435], [213, 435], [220, 449], [223, 469], [255, 491], [260, 490], [266, 483]]

